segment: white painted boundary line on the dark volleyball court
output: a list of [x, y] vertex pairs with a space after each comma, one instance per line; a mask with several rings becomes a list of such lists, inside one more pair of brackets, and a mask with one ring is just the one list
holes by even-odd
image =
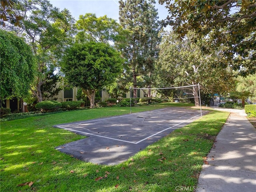
[[[204, 112], [204, 113], [205, 113], [205, 112]], [[197, 117], [197, 116], [199, 116], [199, 115], [201, 115], [201, 114], [198, 114], [198, 115], [196, 115], [196, 116], [194, 116], [194, 117], [192, 117], [192, 118], [195, 118], [195, 117]], [[125, 116], [127, 116], [127, 115], [125, 115]], [[120, 117], [120, 116], [119, 116], [119, 117]], [[113, 117], [113, 118], [116, 118], [116, 117]], [[187, 119], [187, 120], [185, 120], [185, 121], [183, 121], [183, 122], [181, 122], [181, 123], [178, 123], [178, 124], [176, 124], [176, 125], [174, 125], [174, 126], [171, 126], [171, 127], [169, 127], [169, 128], [166, 128], [166, 129], [164, 129], [164, 130], [162, 130], [162, 131], [160, 131], [160, 132], [157, 132], [157, 133], [155, 133], [155, 134], [153, 134], [153, 135], [150, 135], [150, 136], [148, 136], [148, 137], [146, 137], [146, 138], [144, 138], [144, 139], [142, 139], [142, 140], [140, 140], [140, 141], [138, 141], [138, 142], [131, 142], [131, 141], [125, 141], [125, 140], [110, 138], [110, 137], [106, 137], [106, 136], [95, 135], [95, 134], [91, 134], [91, 133], [87, 133], [87, 132], [82, 132], [82, 131], [78, 131], [78, 130], [74, 130], [74, 129], [70, 129], [70, 128], [65, 128], [65, 127], [62, 127], [62, 126], [56, 126], [56, 127], [62, 128], [62, 129], [66, 129], [66, 130], [70, 130], [70, 131], [74, 131], [74, 132], [83, 133], [83, 134], [89, 134], [89, 135], [93, 135], [93, 136], [97, 136], [97, 137], [102, 137], [102, 138], [106, 138], [106, 139], [112, 139], [112, 140], [117, 140], [117, 141], [123, 141], [123, 142], [127, 142], [127, 143], [132, 143], [132, 144], [138, 144], [138, 143], [140, 143], [140, 142], [142, 142], [142, 141], [144, 141], [144, 140], [147, 140], [148, 138], [151, 138], [151, 137], [153, 137], [153, 136], [155, 136], [155, 135], [157, 135], [157, 134], [160, 134], [160, 133], [162, 133], [162, 132], [164, 132], [164, 131], [166, 131], [166, 130], [168, 130], [168, 129], [170, 129], [170, 128], [174, 128], [174, 127], [176, 127], [176, 126], [178, 126], [178, 125], [180, 125], [180, 124], [182, 124], [182, 123], [184, 123], [184, 122], [186, 122], [186, 121], [189, 121], [189, 120], [191, 120], [192, 118]], [[109, 118], [109, 119], [112, 119], [112, 118]], [[94, 120], [94, 121], [97, 121], [97, 120]], [[90, 121], [90, 122], [92, 122], [92, 121]], [[78, 123], [76, 123], [76, 124], [78, 124]], [[74, 125], [74, 124], [71, 124], [71, 125]]]

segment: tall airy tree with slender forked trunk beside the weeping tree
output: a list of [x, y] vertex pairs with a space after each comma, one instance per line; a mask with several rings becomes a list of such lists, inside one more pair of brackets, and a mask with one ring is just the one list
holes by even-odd
[[[48, 71], [56, 67], [64, 48], [72, 43], [74, 18], [69, 11], [60, 11], [48, 0], [20, 0], [16, 11], [23, 16], [17, 34], [25, 36], [37, 61], [36, 86], [31, 91], [38, 102], [43, 100], [41, 86], [47, 82]], [[35, 88], [35, 89], [34, 89]]]

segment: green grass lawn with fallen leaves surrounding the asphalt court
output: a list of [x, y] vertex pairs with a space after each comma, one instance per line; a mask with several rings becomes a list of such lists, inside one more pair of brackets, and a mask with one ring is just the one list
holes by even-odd
[[[132, 112], [164, 105], [182, 106], [141, 106], [133, 107]], [[211, 111], [115, 166], [83, 162], [54, 149], [85, 136], [53, 125], [127, 113], [129, 107], [110, 107], [1, 122], [1, 191], [172, 192], [176, 186], [193, 189], [203, 157], [228, 118], [226, 112]]]

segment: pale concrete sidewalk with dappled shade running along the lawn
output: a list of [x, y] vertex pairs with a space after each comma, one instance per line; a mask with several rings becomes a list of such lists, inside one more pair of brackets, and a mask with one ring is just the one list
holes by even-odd
[[254, 192], [256, 129], [243, 110], [224, 110], [230, 116], [207, 156], [196, 192]]

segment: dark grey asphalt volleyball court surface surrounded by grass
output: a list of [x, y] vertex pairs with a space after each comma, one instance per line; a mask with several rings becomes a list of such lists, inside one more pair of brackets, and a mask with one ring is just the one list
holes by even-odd
[[[203, 115], [207, 111], [203, 111]], [[75, 158], [96, 164], [119, 164], [146, 146], [201, 117], [200, 110], [164, 108], [60, 124], [88, 138], [58, 146], [56, 149]]]

